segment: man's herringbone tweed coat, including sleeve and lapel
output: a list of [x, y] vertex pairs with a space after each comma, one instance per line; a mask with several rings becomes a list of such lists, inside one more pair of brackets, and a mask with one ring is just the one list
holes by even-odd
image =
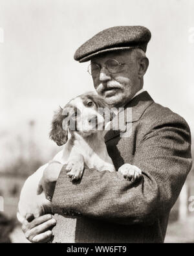
[[53, 242], [164, 242], [169, 211], [191, 169], [189, 126], [147, 91], [126, 108], [132, 109], [131, 136], [112, 130], [105, 142], [116, 170], [131, 163], [142, 180], [86, 169], [72, 183], [63, 167], [52, 200]]

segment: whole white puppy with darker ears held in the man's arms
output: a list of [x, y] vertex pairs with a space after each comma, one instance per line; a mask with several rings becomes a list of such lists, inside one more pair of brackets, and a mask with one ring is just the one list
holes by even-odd
[[[109, 106], [102, 97], [94, 93], [80, 95], [70, 100], [65, 108], [56, 111], [52, 120], [50, 139], [58, 146], [64, 146], [52, 160], [66, 164], [67, 175], [72, 180], [81, 178], [85, 166], [99, 171], [115, 171], [103, 138], [105, 126], [109, 121], [111, 121]], [[38, 201], [47, 200], [44, 193], [36, 194], [39, 181], [47, 166], [48, 163], [40, 167], [23, 186], [19, 200], [19, 213], [23, 217], [33, 211], [33, 202], [37, 204]], [[122, 165], [118, 171], [131, 181], [139, 180], [142, 176], [138, 167], [128, 163]], [[31, 200], [29, 201], [28, 198]]]

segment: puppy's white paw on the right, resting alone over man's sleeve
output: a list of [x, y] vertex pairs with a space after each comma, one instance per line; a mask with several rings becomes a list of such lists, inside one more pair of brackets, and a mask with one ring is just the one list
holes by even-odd
[[138, 181], [142, 178], [142, 171], [135, 165], [130, 165], [129, 163], [122, 165], [118, 169], [118, 172], [121, 172], [126, 180], [132, 182]]

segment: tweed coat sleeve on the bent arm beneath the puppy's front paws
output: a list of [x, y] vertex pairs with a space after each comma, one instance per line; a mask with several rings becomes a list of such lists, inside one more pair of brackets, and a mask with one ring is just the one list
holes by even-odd
[[153, 124], [136, 148], [133, 165], [143, 174], [137, 184], [119, 172], [94, 169], [86, 169], [80, 183], [71, 183], [64, 167], [52, 201], [54, 213], [125, 225], [151, 225], [167, 215], [191, 169], [191, 135], [184, 119], [177, 115]]

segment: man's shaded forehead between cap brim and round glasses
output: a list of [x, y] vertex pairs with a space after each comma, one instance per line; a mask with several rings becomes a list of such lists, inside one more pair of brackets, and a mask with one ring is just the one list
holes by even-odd
[[125, 51], [113, 51], [113, 52], [104, 52], [98, 56], [95, 56], [91, 59], [91, 62], [101, 63], [106, 62], [109, 59], [118, 60], [118, 62], [125, 61], [131, 55], [133, 50], [125, 50]]

